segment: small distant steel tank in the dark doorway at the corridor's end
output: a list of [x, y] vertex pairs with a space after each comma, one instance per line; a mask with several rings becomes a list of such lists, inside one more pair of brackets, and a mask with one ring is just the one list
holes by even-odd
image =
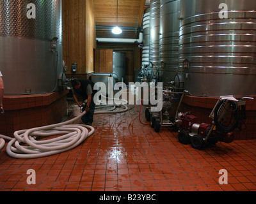
[[116, 82], [124, 82], [125, 80], [125, 52], [113, 52], [113, 77]]

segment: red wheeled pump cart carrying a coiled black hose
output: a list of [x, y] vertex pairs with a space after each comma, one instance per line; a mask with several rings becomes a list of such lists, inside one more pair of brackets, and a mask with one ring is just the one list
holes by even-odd
[[191, 143], [195, 149], [202, 149], [206, 142], [232, 142], [232, 131], [241, 131], [246, 119], [244, 99], [253, 98], [236, 99], [233, 96], [221, 96], [209, 115], [213, 120], [212, 124], [198, 124], [194, 115], [178, 113], [175, 123], [179, 127], [179, 142]]

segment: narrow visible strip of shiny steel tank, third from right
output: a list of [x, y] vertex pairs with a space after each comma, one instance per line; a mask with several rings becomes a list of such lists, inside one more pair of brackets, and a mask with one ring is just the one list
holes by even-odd
[[149, 62], [150, 73], [156, 76], [159, 65], [159, 24], [160, 24], [160, 0], [150, 1], [150, 39]]

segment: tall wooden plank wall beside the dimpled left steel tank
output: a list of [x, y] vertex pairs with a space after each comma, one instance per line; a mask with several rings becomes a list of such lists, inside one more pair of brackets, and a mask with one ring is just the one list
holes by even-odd
[[72, 74], [77, 63], [77, 75], [93, 71], [95, 17], [92, 0], [63, 0], [63, 60]]

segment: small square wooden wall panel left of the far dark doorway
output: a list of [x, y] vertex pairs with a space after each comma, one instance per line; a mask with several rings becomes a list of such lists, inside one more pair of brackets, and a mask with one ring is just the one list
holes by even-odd
[[113, 50], [96, 50], [95, 73], [112, 73]]

